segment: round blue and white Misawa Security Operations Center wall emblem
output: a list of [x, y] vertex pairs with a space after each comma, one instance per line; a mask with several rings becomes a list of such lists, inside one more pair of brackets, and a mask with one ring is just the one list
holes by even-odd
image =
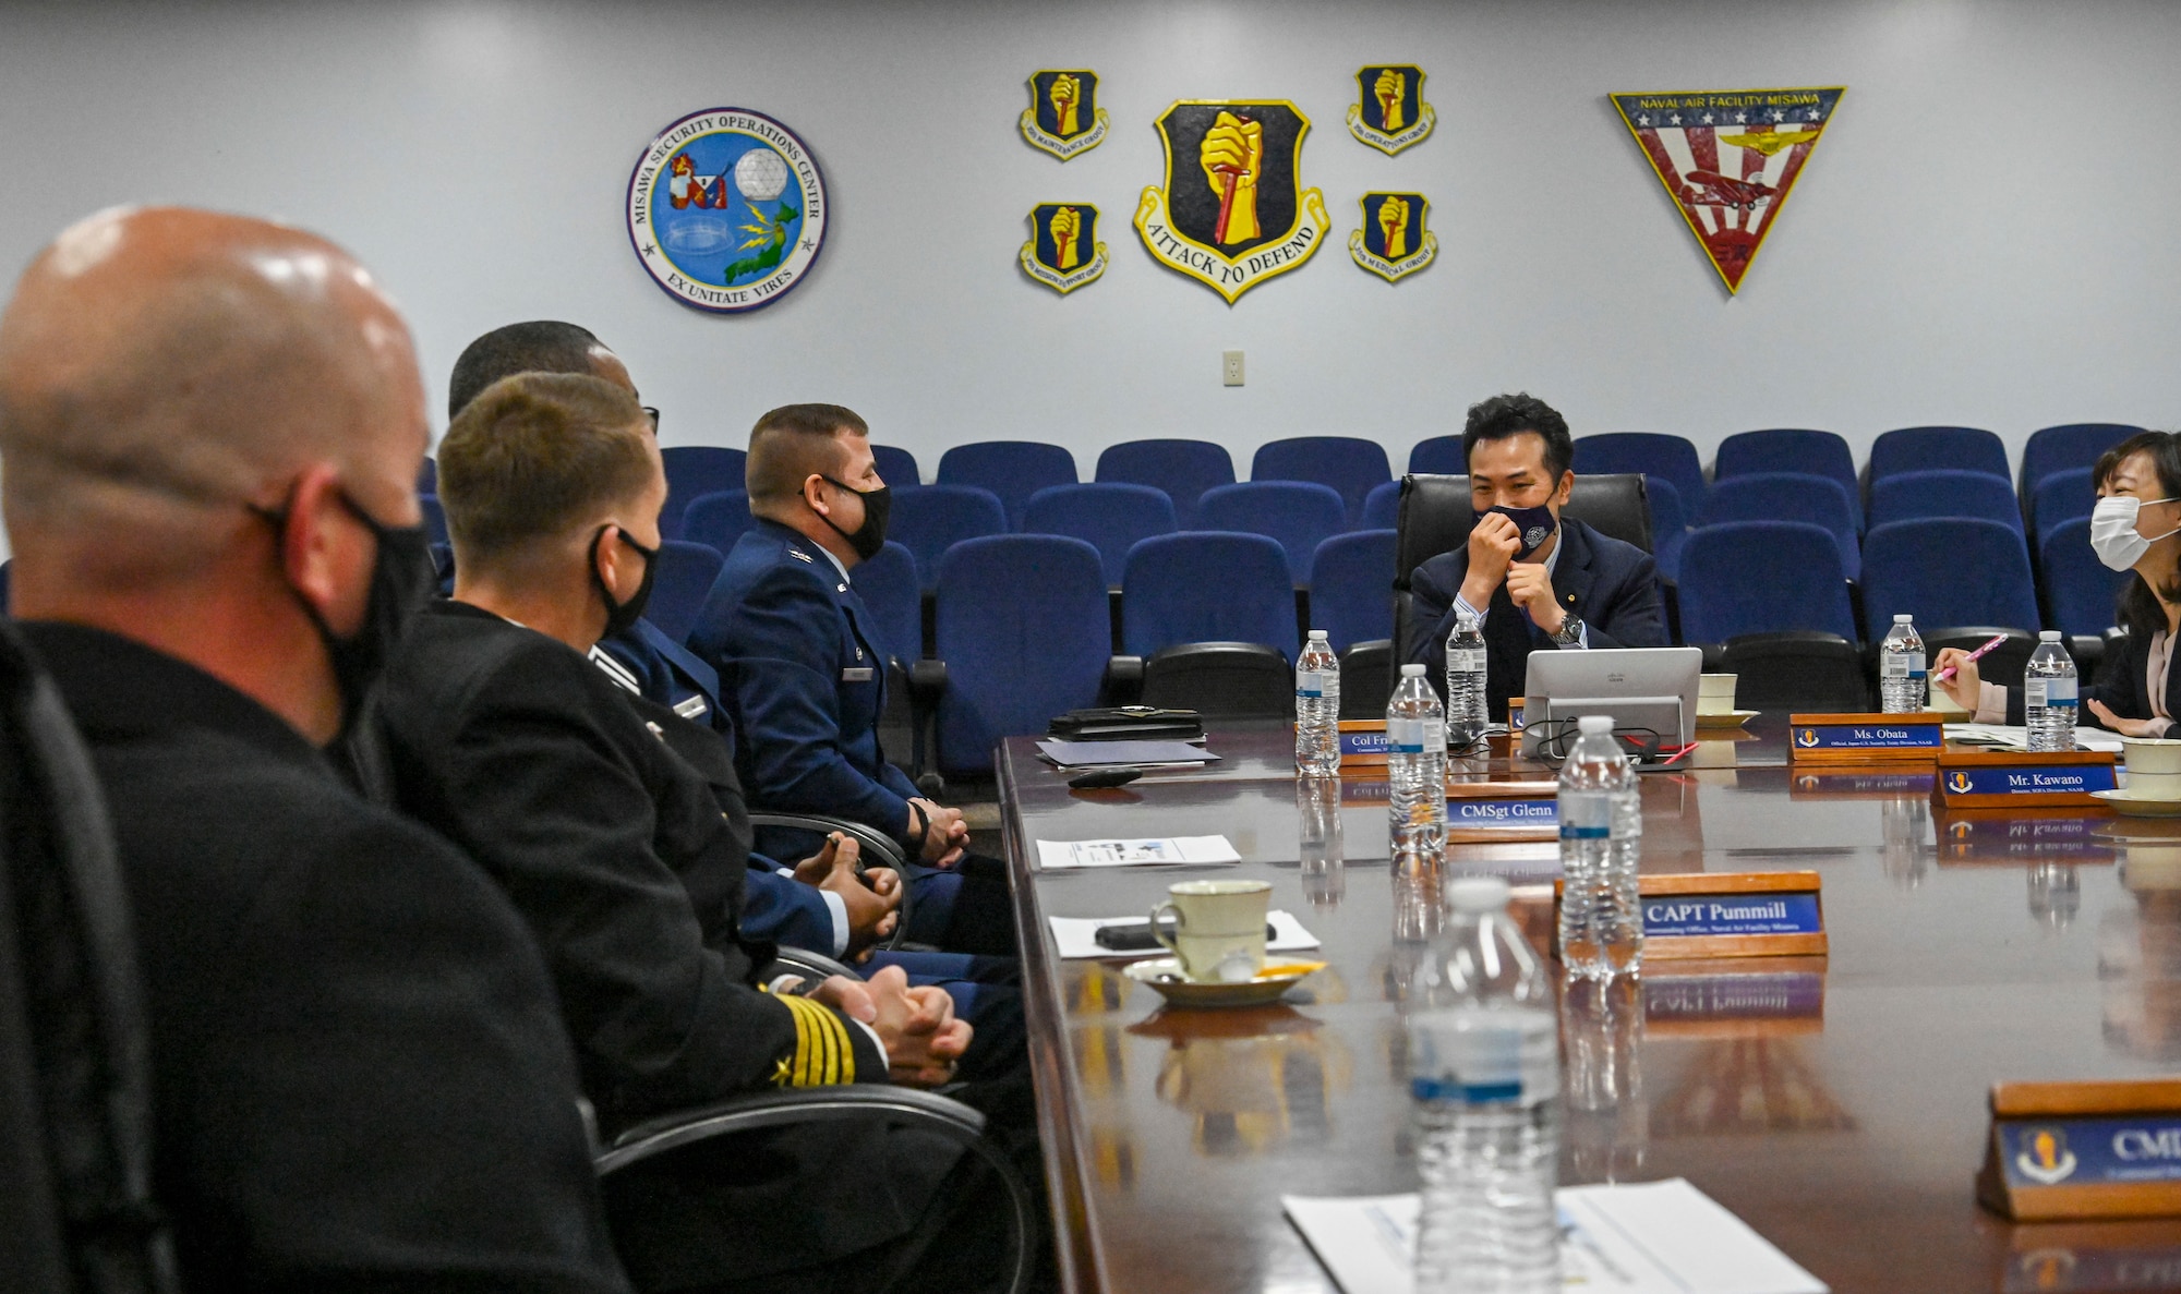
[[772, 305], [824, 246], [818, 159], [781, 122], [704, 109], [661, 131], [628, 176], [628, 242], [667, 296], [715, 314]]

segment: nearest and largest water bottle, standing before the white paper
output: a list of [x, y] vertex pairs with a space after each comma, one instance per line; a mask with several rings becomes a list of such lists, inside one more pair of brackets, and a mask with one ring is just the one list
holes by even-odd
[[1507, 917], [1507, 882], [1463, 876], [1415, 972], [1409, 1091], [1422, 1209], [1418, 1294], [1557, 1294], [1559, 1020]]

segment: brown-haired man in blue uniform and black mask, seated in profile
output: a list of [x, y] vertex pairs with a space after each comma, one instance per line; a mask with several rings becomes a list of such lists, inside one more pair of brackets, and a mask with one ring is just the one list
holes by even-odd
[[[785, 405], [750, 431], [750, 512], [689, 647], [720, 671], [757, 808], [827, 813], [885, 832], [916, 867], [909, 939], [1014, 952], [1005, 876], [968, 856], [962, 810], [925, 799], [879, 747], [885, 645], [851, 569], [885, 542], [890, 495], [870, 429], [840, 405]], [[761, 830], [774, 858], [805, 841]]]

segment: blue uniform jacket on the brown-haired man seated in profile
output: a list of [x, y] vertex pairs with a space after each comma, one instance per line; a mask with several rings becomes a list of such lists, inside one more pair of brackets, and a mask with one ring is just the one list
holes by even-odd
[[[846, 817], [909, 843], [909, 778], [885, 762], [885, 651], [811, 540], [759, 518], [726, 556], [689, 647], [720, 671], [752, 808]], [[759, 845], [779, 856], [770, 832]], [[794, 845], [783, 845], [792, 850]]]

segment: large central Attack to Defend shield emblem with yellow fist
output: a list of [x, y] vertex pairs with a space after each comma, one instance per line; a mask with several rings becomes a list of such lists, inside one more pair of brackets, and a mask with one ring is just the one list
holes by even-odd
[[1326, 196], [1298, 179], [1309, 131], [1287, 100], [1173, 102], [1158, 118], [1167, 183], [1136, 203], [1143, 246], [1228, 305], [1309, 261], [1333, 229]]

